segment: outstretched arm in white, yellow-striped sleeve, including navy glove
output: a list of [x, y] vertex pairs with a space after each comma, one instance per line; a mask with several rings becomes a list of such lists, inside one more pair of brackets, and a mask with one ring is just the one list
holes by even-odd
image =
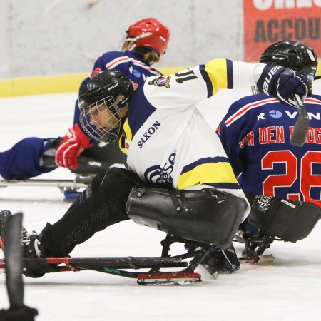
[[175, 112], [195, 108], [196, 103], [214, 96], [220, 89], [250, 88], [255, 85], [260, 92], [290, 105], [295, 93], [303, 99], [307, 93], [300, 74], [295, 71], [275, 64], [228, 59], [214, 59], [205, 65], [170, 76], [148, 78], [144, 93], [153, 106]]

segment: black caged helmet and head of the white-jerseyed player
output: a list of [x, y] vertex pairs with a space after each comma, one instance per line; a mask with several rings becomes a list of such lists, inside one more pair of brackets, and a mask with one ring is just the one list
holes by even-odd
[[113, 143], [121, 133], [121, 109], [128, 107], [133, 96], [129, 78], [117, 70], [97, 73], [81, 89], [78, 107], [84, 131], [92, 138]]

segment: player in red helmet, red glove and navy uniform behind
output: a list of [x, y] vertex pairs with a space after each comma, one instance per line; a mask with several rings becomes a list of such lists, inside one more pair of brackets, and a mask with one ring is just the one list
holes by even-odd
[[[155, 18], [146, 18], [129, 26], [126, 35], [122, 51], [110, 51], [100, 56], [91, 75], [81, 83], [79, 91], [96, 73], [106, 69], [124, 73], [132, 81], [134, 88], [143, 85], [149, 76], [161, 76], [151, 65], [160, 61], [165, 54], [170, 39], [168, 27]], [[56, 169], [57, 165], [76, 170], [79, 165], [78, 156], [84, 149], [87, 150], [82, 156], [87, 158], [96, 161], [104, 161], [106, 158], [106, 161], [122, 163], [121, 152], [117, 146], [98, 148], [98, 143], [81, 128], [76, 101], [73, 128], [68, 129], [64, 138], [24, 138], [8, 151], [0, 153], [0, 178], [2, 176], [5, 180], [25, 180], [49, 173]], [[82, 169], [78, 168], [78, 171]]]

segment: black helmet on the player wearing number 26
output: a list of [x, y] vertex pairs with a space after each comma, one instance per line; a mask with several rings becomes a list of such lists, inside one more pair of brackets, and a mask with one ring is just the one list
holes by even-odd
[[277, 63], [302, 73], [308, 89], [312, 88], [317, 72], [317, 54], [314, 49], [292, 40], [282, 40], [268, 46], [260, 58], [260, 63]]

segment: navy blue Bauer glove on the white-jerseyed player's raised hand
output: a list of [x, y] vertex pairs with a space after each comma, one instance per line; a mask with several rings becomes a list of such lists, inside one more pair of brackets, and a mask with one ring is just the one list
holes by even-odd
[[287, 103], [292, 107], [297, 107], [295, 94], [300, 96], [301, 101], [307, 96], [307, 86], [301, 73], [278, 66], [276, 63], [268, 63], [265, 66], [257, 86], [260, 93], [277, 98], [280, 103]]

